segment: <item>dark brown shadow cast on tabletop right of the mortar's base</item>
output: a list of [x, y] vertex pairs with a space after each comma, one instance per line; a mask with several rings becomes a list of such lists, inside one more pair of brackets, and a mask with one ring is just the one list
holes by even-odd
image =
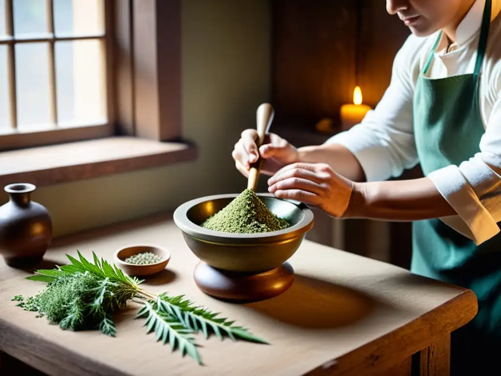
[[377, 302], [349, 288], [296, 275], [282, 295], [247, 307], [281, 322], [305, 328], [334, 328], [359, 321]]

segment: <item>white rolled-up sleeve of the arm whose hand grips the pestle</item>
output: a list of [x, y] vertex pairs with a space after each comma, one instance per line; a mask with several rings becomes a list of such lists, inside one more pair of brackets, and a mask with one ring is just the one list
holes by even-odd
[[382, 181], [402, 174], [418, 162], [412, 124], [412, 60], [418, 50], [410, 36], [393, 62], [391, 82], [374, 110], [362, 122], [338, 133], [326, 143], [341, 144], [361, 164], [367, 181]]

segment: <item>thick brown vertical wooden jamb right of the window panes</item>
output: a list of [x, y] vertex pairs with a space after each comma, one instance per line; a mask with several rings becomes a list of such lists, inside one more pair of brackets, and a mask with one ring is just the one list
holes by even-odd
[[182, 138], [182, 0], [115, 0], [118, 134]]

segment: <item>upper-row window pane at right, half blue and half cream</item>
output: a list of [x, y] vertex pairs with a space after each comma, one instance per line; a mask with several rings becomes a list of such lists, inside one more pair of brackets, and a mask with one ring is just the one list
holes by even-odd
[[54, 29], [57, 36], [104, 33], [103, 0], [54, 0]]

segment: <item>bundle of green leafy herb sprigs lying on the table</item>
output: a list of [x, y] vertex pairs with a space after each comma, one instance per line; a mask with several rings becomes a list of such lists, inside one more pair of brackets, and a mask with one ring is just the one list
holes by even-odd
[[[78, 252], [78, 251], [77, 251]], [[94, 263], [78, 252], [79, 260], [66, 255], [70, 265], [56, 269], [37, 270], [27, 277], [34, 281], [48, 282], [46, 288], [26, 300], [16, 295], [12, 300], [27, 311], [46, 316], [50, 323], [62, 329], [99, 329], [115, 336], [113, 314], [124, 308], [128, 301], [142, 307], [135, 318], [145, 319], [146, 333], [155, 332], [156, 340], [168, 341], [171, 351], [179, 349], [201, 364], [200, 354], [193, 334], [201, 331], [205, 338], [215, 334], [219, 339], [226, 335], [258, 343], [268, 343], [251, 334], [246, 328], [232, 325], [234, 321], [217, 317], [207, 309], [195, 306], [184, 295], [169, 296], [167, 292], [152, 294], [139, 287], [142, 280], [125, 275], [115, 265], [99, 260], [93, 252]]]

